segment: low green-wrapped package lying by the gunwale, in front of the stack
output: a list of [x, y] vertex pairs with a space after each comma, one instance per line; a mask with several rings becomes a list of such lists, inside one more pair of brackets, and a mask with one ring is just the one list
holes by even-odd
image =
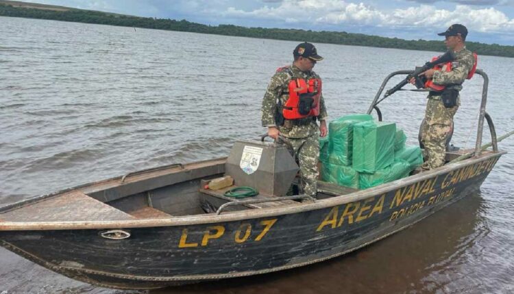
[[405, 178], [413, 170], [411, 164], [407, 161], [395, 161], [387, 168], [377, 170], [373, 174], [361, 172], [358, 176], [358, 183], [360, 189], [367, 189], [396, 181], [399, 178]]

